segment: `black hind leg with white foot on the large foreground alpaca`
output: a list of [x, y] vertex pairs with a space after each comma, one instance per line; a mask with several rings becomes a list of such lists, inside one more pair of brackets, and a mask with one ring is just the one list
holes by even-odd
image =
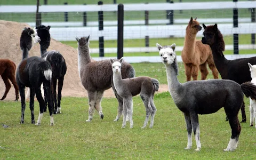
[[[227, 113], [227, 112], [226, 112]], [[239, 134], [241, 132], [241, 126], [238, 121], [237, 115], [228, 115], [229, 124], [231, 127], [231, 138], [228, 143], [228, 147], [224, 151], [234, 151], [237, 148], [237, 143], [239, 139]]]

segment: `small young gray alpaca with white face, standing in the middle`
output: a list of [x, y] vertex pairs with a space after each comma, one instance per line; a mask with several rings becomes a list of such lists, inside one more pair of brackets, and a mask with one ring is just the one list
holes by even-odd
[[145, 105], [146, 108], [146, 118], [142, 128], [145, 128], [149, 116], [151, 115], [150, 125], [149, 127], [153, 127], [154, 124], [154, 117], [156, 114], [156, 106], [154, 104], [154, 94], [159, 89], [159, 82], [157, 79], [147, 77], [147, 76], [140, 76], [135, 78], [126, 78], [122, 79], [121, 77], [121, 64], [124, 62], [123, 58], [119, 61], [110, 59], [112, 63], [113, 69], [113, 81], [115, 85], [115, 89], [123, 98], [124, 107], [123, 107], [123, 124], [122, 127], [124, 128], [126, 125], [126, 115], [128, 115], [130, 121], [130, 128], [133, 127], [132, 121], [132, 112], [133, 112], [133, 101], [132, 97], [135, 95], [140, 94], [140, 97]]

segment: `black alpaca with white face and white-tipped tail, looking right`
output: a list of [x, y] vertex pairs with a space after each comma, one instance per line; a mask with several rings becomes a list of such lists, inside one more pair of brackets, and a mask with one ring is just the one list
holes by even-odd
[[52, 102], [51, 102], [51, 77], [52, 77], [52, 68], [51, 64], [48, 61], [45, 61], [41, 57], [29, 57], [28, 52], [33, 46], [34, 43], [40, 41], [40, 38], [37, 36], [37, 32], [34, 29], [25, 28], [22, 31], [20, 37], [20, 48], [23, 52], [22, 61], [20, 62], [17, 71], [16, 71], [16, 81], [19, 86], [20, 97], [21, 97], [21, 119], [20, 123], [24, 123], [24, 112], [26, 108], [25, 103], [25, 87], [30, 88], [30, 104], [29, 108], [31, 111], [31, 123], [35, 124], [34, 116], [34, 97], [39, 102], [40, 112], [36, 125], [40, 125], [45, 102], [41, 94], [41, 84], [44, 84], [44, 90], [46, 93], [46, 99], [48, 102], [49, 113], [50, 113], [50, 125], [54, 124], [52, 116]]

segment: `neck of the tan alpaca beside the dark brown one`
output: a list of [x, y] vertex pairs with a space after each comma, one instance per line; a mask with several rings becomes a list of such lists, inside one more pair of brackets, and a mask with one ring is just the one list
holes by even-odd
[[196, 34], [192, 34], [190, 33], [189, 29], [186, 29], [184, 50], [189, 51], [190, 56], [194, 56], [195, 46], [196, 46]]

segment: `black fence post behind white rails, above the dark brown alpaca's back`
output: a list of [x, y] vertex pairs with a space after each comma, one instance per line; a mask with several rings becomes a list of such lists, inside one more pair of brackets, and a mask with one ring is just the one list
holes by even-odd
[[[237, 2], [238, 0], [233, 0]], [[233, 9], [233, 27], [238, 27], [238, 9]], [[238, 34], [233, 34], [233, 45], [234, 45], [234, 54], [239, 54], [238, 50]]]

